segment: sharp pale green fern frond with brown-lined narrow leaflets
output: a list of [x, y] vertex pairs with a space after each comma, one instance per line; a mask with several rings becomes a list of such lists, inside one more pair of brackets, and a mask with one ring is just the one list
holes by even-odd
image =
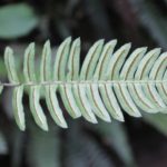
[[95, 42], [80, 67], [80, 39], [71, 41], [67, 38], [58, 48], [51, 67], [51, 48], [47, 41], [40, 77], [35, 70], [35, 43], [30, 43], [24, 52], [24, 81], [20, 81], [17, 75], [13, 52], [8, 47], [4, 63], [9, 84], [0, 84], [0, 89], [13, 87], [13, 110], [19, 128], [26, 129], [24, 87], [28, 87], [35, 121], [43, 130], [48, 130], [48, 124], [39, 102], [41, 89], [52, 119], [62, 128], [67, 128], [67, 122], [58, 94], [72, 118], [82, 116], [92, 124], [98, 122], [97, 117], [105, 121], [111, 121], [111, 117], [124, 121], [122, 110], [132, 117], [141, 117], [140, 111], [167, 112], [167, 52], [160, 53], [159, 48], [147, 51], [141, 47], [129, 53], [130, 43], [115, 50], [116, 43], [117, 40]]

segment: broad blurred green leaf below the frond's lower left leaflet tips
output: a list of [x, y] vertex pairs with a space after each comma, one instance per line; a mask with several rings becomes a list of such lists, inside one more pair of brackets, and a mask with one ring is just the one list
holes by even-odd
[[48, 132], [41, 131], [31, 122], [26, 158], [31, 167], [60, 167], [59, 128], [51, 125]]

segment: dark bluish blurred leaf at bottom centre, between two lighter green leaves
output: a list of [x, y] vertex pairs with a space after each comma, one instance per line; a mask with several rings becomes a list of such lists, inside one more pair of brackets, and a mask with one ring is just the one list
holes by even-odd
[[82, 131], [81, 125], [72, 122], [67, 131], [65, 166], [114, 167], [112, 160], [92, 137]]

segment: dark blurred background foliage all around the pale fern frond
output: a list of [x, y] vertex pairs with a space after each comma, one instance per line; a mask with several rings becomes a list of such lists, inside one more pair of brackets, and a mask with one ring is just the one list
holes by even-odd
[[[167, 0], [1, 0], [0, 79], [7, 81], [6, 46], [14, 49], [18, 69], [26, 46], [37, 43], [37, 57], [50, 39], [56, 47], [68, 36], [80, 37], [81, 61], [98, 39], [117, 38], [118, 46], [148, 46], [167, 50]], [[38, 61], [37, 61], [38, 63]], [[21, 70], [20, 73], [21, 75]], [[68, 116], [67, 130], [49, 119], [49, 132], [41, 131], [29, 114], [27, 130], [19, 131], [11, 110], [11, 90], [0, 97], [0, 166], [3, 167], [166, 167], [167, 116], [146, 115], [126, 121], [98, 125]], [[41, 100], [43, 108], [46, 104]], [[63, 107], [63, 106], [62, 106]], [[47, 109], [46, 109], [47, 114]]]

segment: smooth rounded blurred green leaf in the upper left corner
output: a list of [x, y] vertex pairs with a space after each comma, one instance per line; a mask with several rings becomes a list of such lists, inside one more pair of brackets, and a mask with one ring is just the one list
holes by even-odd
[[39, 19], [26, 3], [0, 8], [0, 38], [10, 39], [26, 36], [38, 26]]

